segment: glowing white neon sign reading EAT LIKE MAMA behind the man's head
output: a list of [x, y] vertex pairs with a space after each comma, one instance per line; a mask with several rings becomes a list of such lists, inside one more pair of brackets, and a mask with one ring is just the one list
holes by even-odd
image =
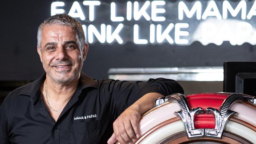
[[80, 20], [89, 43], [256, 44], [255, 1], [52, 2], [58, 13]]

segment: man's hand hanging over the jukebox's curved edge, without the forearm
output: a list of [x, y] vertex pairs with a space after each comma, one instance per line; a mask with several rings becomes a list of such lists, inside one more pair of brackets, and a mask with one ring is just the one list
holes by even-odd
[[108, 144], [132, 144], [139, 137], [139, 119], [141, 113], [139, 107], [132, 105], [128, 107], [113, 123], [114, 133], [109, 138]]

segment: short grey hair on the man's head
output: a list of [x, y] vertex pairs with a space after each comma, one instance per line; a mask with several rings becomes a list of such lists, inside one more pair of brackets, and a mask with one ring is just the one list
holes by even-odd
[[76, 30], [76, 42], [78, 44], [78, 47], [80, 48], [81, 51], [83, 50], [86, 43], [83, 27], [81, 23], [78, 22], [78, 20], [65, 14], [53, 15], [45, 19], [45, 21], [40, 24], [37, 31], [37, 45], [39, 46], [40, 50], [41, 50], [43, 28], [46, 25], [51, 25], [51, 24], [59, 24], [59, 25], [70, 26], [74, 28]]

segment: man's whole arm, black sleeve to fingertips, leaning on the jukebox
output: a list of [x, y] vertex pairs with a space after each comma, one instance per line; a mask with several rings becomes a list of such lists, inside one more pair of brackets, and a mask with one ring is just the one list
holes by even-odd
[[132, 83], [111, 81], [107, 90], [110, 112], [116, 119], [109, 144], [113, 144], [116, 139], [121, 144], [132, 143], [136, 135], [140, 135], [138, 122], [141, 115], [154, 107], [154, 100], [173, 93], [184, 93], [177, 81], [164, 78]]

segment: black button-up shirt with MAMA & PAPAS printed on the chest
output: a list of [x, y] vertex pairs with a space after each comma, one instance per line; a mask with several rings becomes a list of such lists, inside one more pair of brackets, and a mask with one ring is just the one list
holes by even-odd
[[1, 144], [105, 144], [115, 119], [144, 94], [183, 93], [170, 79], [95, 80], [81, 72], [75, 94], [55, 122], [40, 91], [45, 76], [14, 90], [2, 103]]

